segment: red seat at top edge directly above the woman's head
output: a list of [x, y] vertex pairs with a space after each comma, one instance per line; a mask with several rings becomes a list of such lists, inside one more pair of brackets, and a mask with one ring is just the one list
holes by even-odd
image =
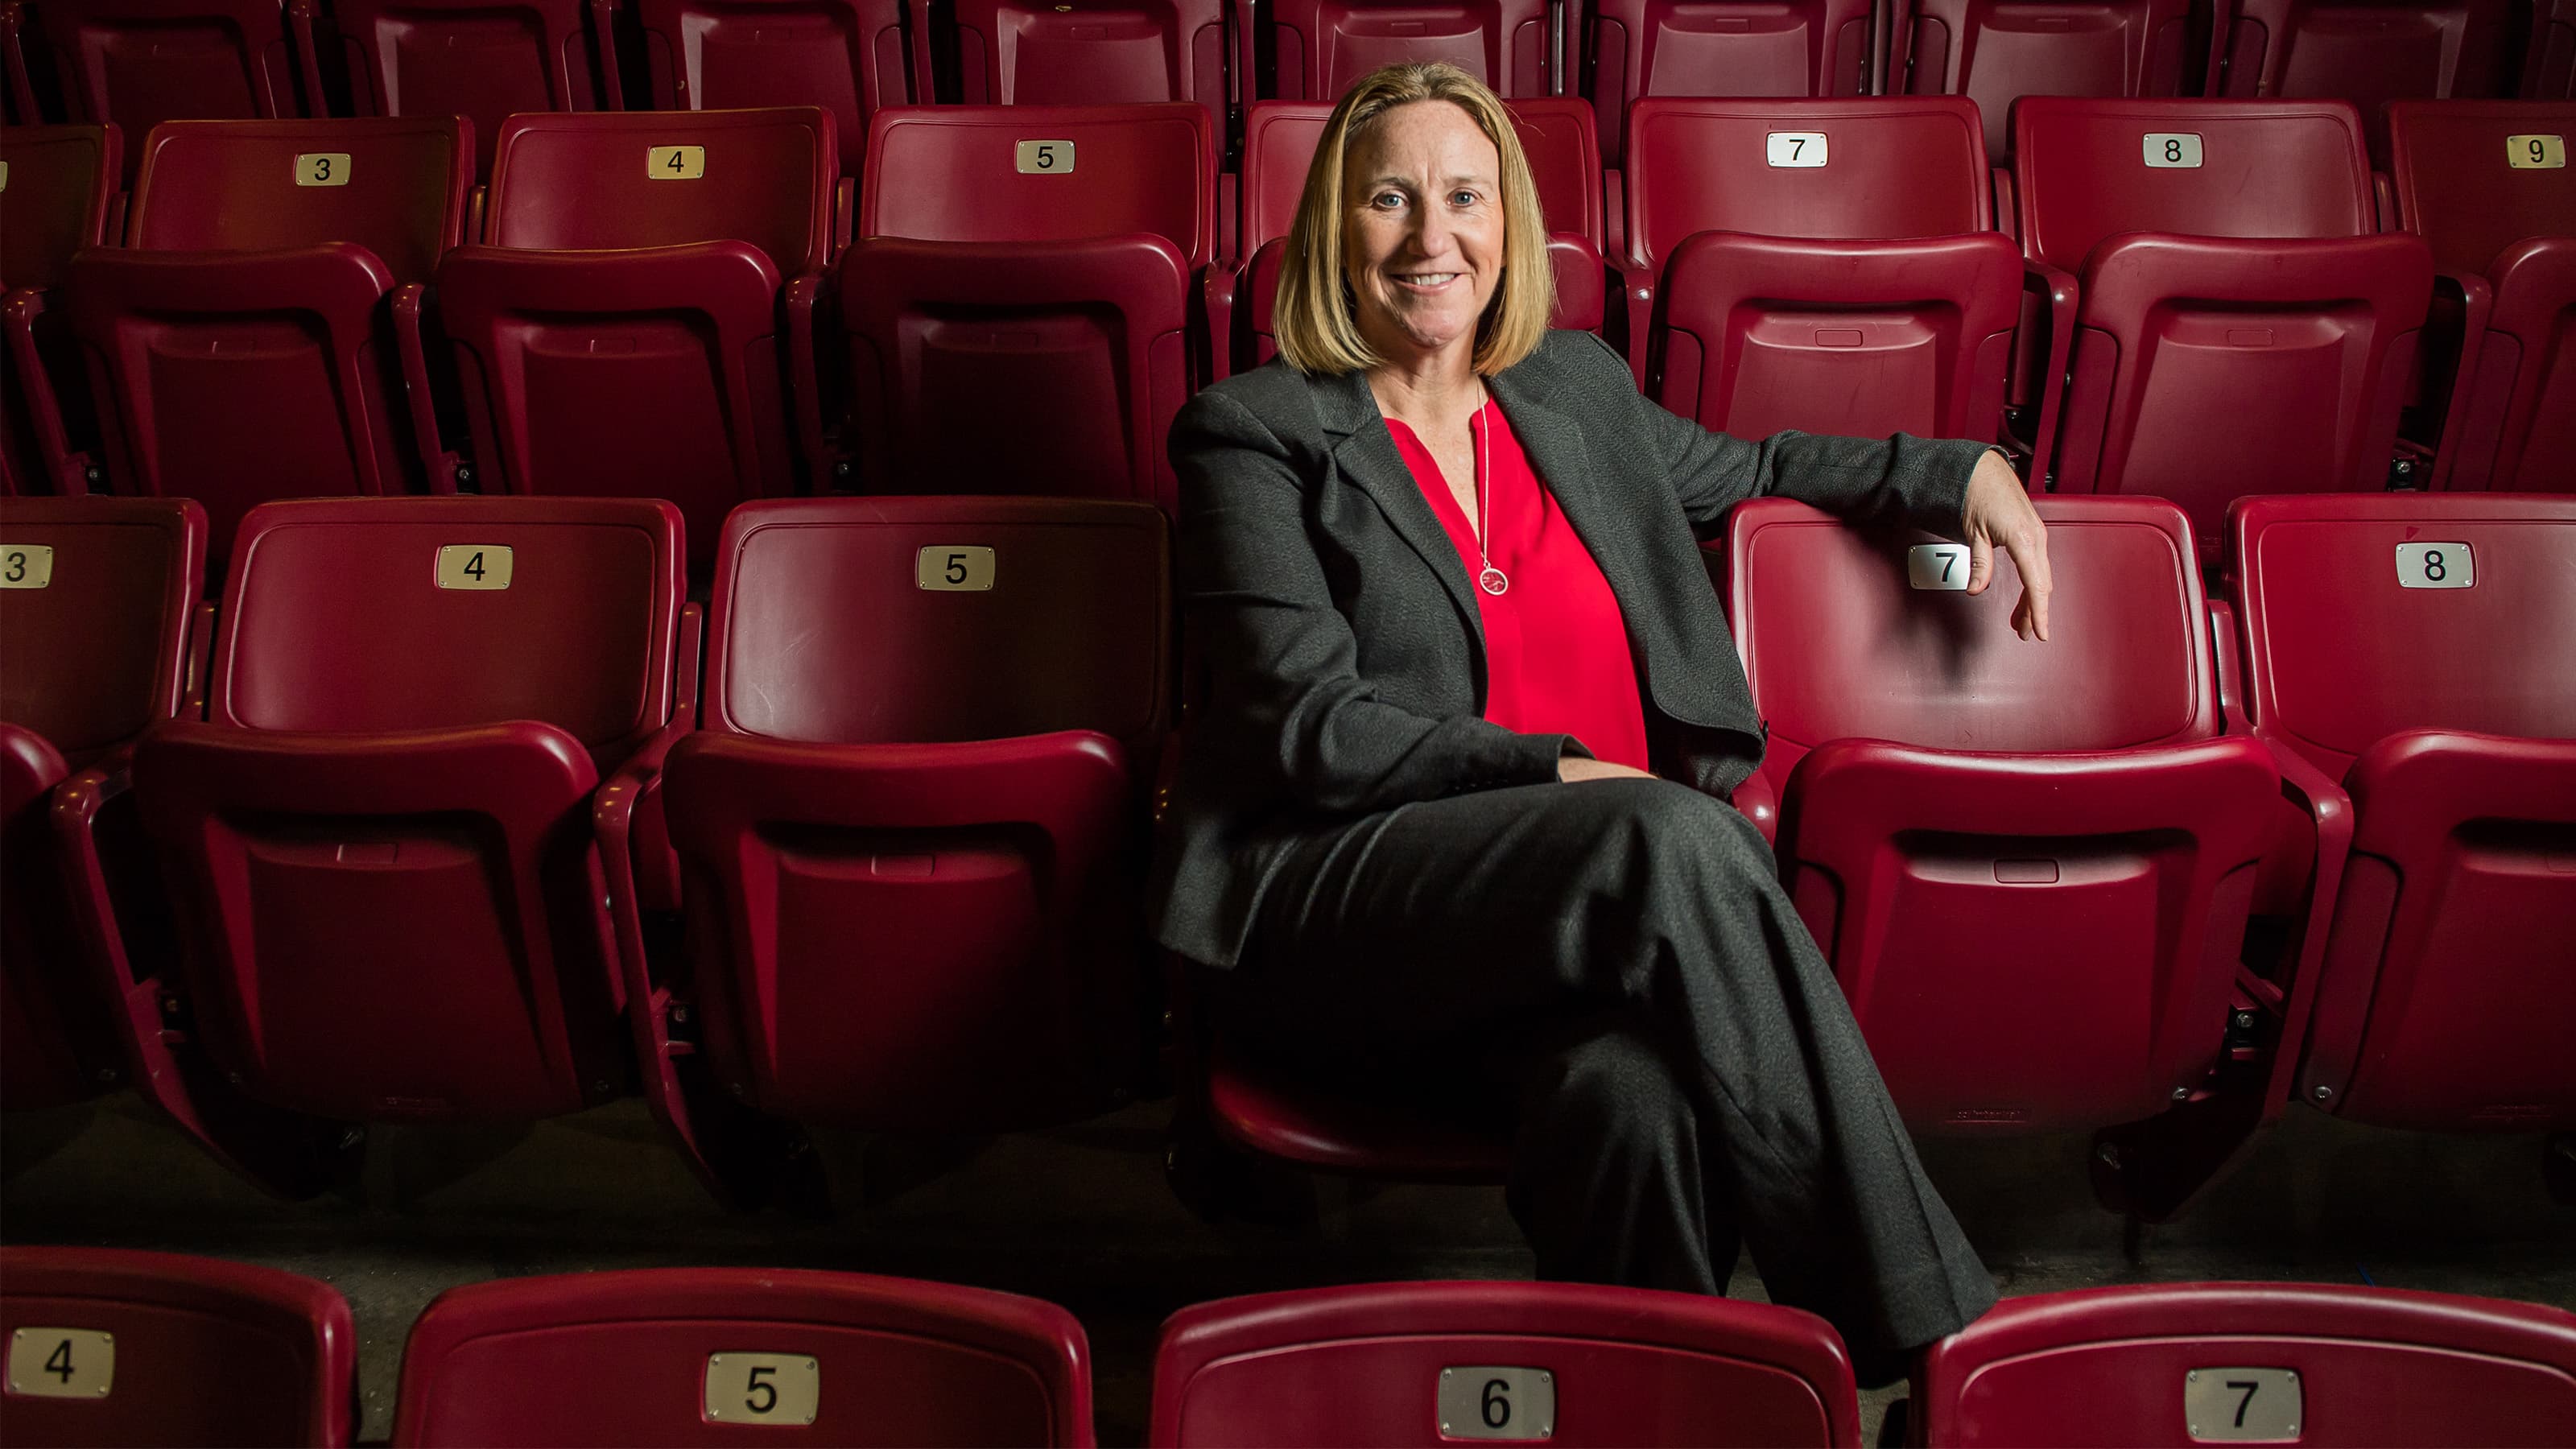
[[1265, 95], [1280, 101], [1340, 101], [1370, 70], [1406, 59], [1445, 59], [1499, 95], [1556, 90], [1546, 0], [1273, 0], [1267, 15]]

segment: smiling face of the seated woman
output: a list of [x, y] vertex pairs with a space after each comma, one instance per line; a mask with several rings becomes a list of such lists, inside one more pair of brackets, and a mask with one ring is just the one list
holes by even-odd
[[1502, 155], [1450, 101], [1381, 113], [1342, 157], [1342, 268], [1383, 358], [1476, 345], [1502, 281]]

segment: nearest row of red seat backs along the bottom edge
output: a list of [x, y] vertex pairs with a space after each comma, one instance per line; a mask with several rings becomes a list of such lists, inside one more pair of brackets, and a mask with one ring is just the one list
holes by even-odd
[[[330, 1287], [214, 1258], [0, 1250], [13, 1444], [350, 1441]], [[2004, 1299], [1932, 1346], [1906, 1444], [2561, 1444], [2576, 1315], [2326, 1284]], [[1090, 1343], [1018, 1294], [799, 1269], [456, 1287], [402, 1354], [394, 1444], [1090, 1446]], [[1203, 1302], [1162, 1325], [1149, 1444], [1860, 1446], [1834, 1330], [1762, 1302], [1412, 1281]], [[744, 1436], [742, 1441], [750, 1441]], [[1899, 1439], [1883, 1436], [1886, 1444]]]

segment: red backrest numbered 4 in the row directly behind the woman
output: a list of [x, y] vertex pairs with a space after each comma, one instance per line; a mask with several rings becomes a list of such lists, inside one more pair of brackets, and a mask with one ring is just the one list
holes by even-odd
[[533, 250], [750, 242], [781, 276], [799, 276], [829, 258], [835, 175], [832, 121], [814, 106], [513, 116], [492, 157], [484, 240]]

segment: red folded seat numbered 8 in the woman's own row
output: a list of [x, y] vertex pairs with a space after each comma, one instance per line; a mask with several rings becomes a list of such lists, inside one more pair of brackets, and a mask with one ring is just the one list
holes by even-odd
[[2576, 1127], [2576, 498], [2249, 498], [2228, 526], [2254, 735], [2352, 833], [2318, 861], [2298, 1096]]

